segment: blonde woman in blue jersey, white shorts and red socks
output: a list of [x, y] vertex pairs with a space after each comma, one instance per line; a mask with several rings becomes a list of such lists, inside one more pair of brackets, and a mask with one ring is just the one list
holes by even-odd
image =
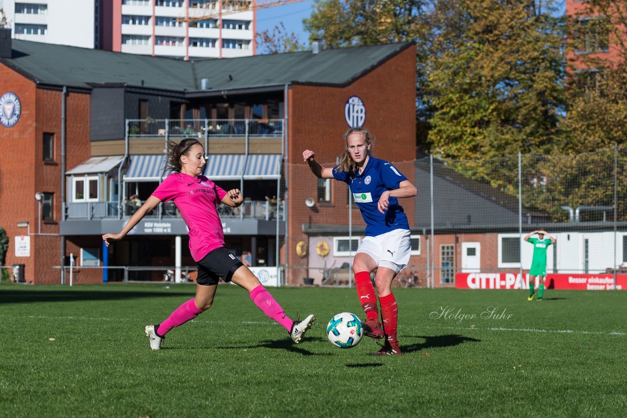
[[[414, 197], [418, 192], [394, 165], [371, 155], [369, 130], [350, 128], [344, 133], [344, 140], [346, 147], [336, 167], [322, 167], [312, 150], [303, 151], [303, 159], [320, 179], [339, 180], [350, 187], [366, 222], [366, 237], [359, 244], [352, 265], [357, 296], [366, 313], [364, 331], [372, 338], [385, 337], [381, 350], [374, 354], [399, 355], [398, 307], [391, 285], [396, 274], [409, 263], [411, 244], [407, 216], [398, 199]], [[376, 296], [370, 280], [375, 269]], [[383, 326], [379, 322], [377, 298]]]

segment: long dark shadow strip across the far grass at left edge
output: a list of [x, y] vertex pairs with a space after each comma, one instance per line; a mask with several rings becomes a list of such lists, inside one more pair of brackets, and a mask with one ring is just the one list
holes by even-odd
[[82, 300], [124, 300], [140, 298], [143, 296], [170, 297], [193, 295], [192, 292], [142, 292], [142, 291], [117, 291], [117, 290], [16, 290], [0, 292], [0, 305], [5, 303], [37, 303], [37, 302], [71, 302]]

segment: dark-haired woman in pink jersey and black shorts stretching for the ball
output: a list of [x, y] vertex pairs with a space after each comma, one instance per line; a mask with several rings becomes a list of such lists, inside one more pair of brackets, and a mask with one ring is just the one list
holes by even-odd
[[179, 144], [169, 143], [167, 165], [171, 174], [146, 199], [142, 207], [130, 217], [127, 224], [117, 234], [104, 234], [102, 239], [107, 246], [119, 241], [149, 214], [162, 201], [174, 200], [189, 228], [189, 249], [198, 263], [196, 297], [176, 308], [159, 325], [147, 325], [144, 329], [149, 338], [150, 348], [159, 350], [166, 334], [174, 327], [196, 318], [212, 304], [218, 281], [232, 281], [250, 293], [251, 300], [269, 318], [282, 325], [299, 343], [305, 332], [314, 324], [314, 315], [302, 321], [291, 320], [283, 308], [275, 301], [258, 278], [241, 261], [224, 247], [222, 222], [216, 211], [216, 204], [240, 206], [244, 198], [239, 189], [224, 191], [204, 175], [204, 148], [198, 140], [186, 138]]

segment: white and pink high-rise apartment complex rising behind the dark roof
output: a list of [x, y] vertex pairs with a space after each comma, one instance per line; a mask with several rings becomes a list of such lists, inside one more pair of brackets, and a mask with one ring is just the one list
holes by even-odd
[[255, 11], [234, 12], [215, 0], [3, 0], [2, 6], [15, 39], [186, 60], [255, 54]]

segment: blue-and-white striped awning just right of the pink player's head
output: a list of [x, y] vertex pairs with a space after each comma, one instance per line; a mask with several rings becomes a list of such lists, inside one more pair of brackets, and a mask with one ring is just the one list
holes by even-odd
[[281, 174], [281, 154], [209, 154], [204, 175], [209, 180], [276, 180]]

